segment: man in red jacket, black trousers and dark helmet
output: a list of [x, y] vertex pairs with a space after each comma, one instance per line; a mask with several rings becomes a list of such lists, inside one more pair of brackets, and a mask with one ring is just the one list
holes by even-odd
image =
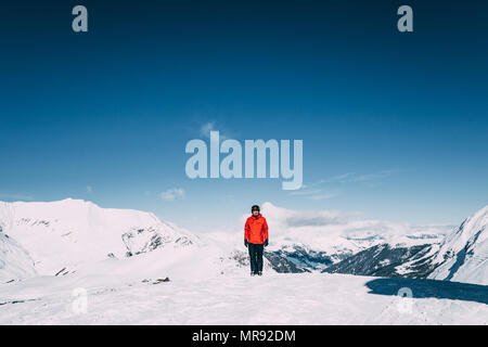
[[268, 223], [259, 211], [259, 206], [251, 207], [253, 216], [244, 226], [244, 245], [249, 249], [251, 275], [262, 274], [262, 252], [268, 246]]

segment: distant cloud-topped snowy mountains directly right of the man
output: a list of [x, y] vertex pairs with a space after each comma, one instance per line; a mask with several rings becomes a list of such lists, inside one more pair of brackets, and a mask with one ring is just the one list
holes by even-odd
[[[270, 226], [271, 257], [285, 258], [303, 269], [322, 271], [362, 250], [378, 245], [410, 248], [440, 243], [452, 226], [413, 226], [364, 219], [359, 214], [330, 210], [291, 210], [262, 205]], [[243, 216], [244, 221], [246, 216]]]

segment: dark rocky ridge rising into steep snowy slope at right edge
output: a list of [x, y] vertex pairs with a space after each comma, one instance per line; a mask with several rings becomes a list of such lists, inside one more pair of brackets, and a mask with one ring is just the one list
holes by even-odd
[[439, 244], [376, 245], [323, 271], [488, 284], [487, 224], [488, 206], [464, 220]]

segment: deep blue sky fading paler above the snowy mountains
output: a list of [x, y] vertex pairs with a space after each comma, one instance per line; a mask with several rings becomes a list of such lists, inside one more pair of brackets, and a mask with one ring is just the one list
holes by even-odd
[[[458, 223], [488, 196], [488, 7], [409, 3], [409, 34], [398, 1], [85, 1], [87, 34], [70, 30], [78, 3], [2, 3], [0, 200], [197, 231], [266, 201]], [[209, 128], [304, 140], [306, 188], [190, 180], [185, 143]]]

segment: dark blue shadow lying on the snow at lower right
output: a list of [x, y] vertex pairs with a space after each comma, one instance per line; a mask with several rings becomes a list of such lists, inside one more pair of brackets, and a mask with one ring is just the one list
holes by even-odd
[[418, 279], [375, 279], [365, 284], [370, 294], [398, 295], [400, 288], [410, 288], [414, 298], [476, 301], [488, 305], [488, 285]]

